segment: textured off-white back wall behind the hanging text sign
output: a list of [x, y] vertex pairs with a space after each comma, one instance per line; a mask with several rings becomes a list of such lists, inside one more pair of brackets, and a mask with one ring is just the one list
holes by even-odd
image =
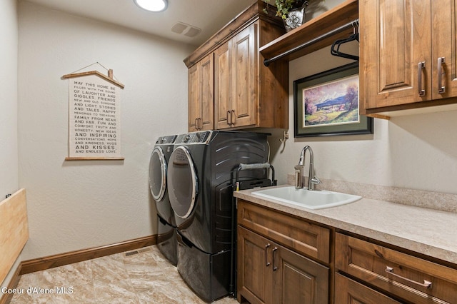
[[[26, 188], [30, 238], [23, 260], [156, 233], [149, 155], [159, 136], [187, 128], [192, 49], [26, 1], [19, 2], [19, 184]], [[69, 81], [99, 62], [124, 83], [124, 161], [64, 161]], [[106, 72], [98, 65], [92, 66]], [[90, 70], [90, 69], [89, 69]]]

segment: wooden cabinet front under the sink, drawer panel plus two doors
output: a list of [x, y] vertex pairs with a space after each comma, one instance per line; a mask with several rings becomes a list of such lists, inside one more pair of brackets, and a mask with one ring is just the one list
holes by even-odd
[[328, 261], [327, 228], [238, 201], [237, 232], [238, 302], [328, 303], [330, 268], [298, 253]]

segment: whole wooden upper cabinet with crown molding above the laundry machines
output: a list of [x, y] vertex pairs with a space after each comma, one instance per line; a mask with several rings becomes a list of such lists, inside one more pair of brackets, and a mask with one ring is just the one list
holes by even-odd
[[[189, 131], [205, 121], [196, 114], [199, 104], [211, 108], [215, 129], [288, 128], [288, 62], [266, 67], [258, 51], [284, 29], [281, 20], [263, 13], [264, 7], [263, 1], [256, 1], [184, 60], [189, 68]], [[195, 66], [202, 66], [207, 54], [214, 56], [212, 77], [196, 78]], [[205, 83], [194, 83], [196, 79]], [[199, 86], [214, 91], [200, 88], [211, 94], [196, 102]]]

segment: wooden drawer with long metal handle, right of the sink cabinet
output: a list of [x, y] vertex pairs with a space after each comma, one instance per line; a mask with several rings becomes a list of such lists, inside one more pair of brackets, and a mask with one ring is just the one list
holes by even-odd
[[336, 233], [335, 266], [412, 303], [457, 303], [457, 270]]

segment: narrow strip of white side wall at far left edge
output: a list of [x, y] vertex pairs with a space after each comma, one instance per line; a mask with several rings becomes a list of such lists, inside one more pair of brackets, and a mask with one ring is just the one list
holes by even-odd
[[0, 201], [18, 190], [17, 8], [0, 1]]

